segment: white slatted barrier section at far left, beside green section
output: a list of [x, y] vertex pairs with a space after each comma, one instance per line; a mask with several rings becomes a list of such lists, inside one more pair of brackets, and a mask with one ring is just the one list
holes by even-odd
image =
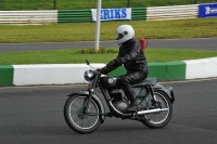
[[38, 25], [58, 23], [58, 10], [0, 11], [0, 24]]

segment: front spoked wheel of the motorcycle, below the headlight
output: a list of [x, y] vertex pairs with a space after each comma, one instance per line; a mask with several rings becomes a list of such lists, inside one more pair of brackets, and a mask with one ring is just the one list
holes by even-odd
[[87, 96], [73, 95], [68, 97], [64, 107], [64, 117], [67, 125], [79, 133], [95, 131], [100, 123], [99, 104], [93, 99], [90, 101], [88, 113], [84, 113]]

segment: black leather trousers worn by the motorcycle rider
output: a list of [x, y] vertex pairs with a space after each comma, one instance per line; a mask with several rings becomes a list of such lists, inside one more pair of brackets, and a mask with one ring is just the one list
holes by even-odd
[[120, 76], [120, 88], [130, 103], [136, 103], [136, 93], [130, 84], [140, 82], [146, 78], [145, 71], [127, 71], [126, 75]]

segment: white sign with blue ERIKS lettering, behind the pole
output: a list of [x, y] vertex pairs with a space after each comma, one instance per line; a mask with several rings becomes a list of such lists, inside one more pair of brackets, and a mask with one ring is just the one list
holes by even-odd
[[[91, 9], [92, 21], [97, 21], [97, 9]], [[101, 21], [131, 19], [131, 9], [101, 9]]]

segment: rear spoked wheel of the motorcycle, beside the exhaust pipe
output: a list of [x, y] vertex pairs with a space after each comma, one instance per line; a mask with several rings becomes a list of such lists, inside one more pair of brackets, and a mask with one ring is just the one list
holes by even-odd
[[[154, 107], [161, 108], [162, 112], [144, 115], [144, 119], [141, 120], [142, 123], [152, 129], [165, 127], [173, 116], [173, 105], [168, 96], [161, 91], [155, 91], [154, 94], [157, 100]], [[146, 99], [152, 100], [151, 95]]]

